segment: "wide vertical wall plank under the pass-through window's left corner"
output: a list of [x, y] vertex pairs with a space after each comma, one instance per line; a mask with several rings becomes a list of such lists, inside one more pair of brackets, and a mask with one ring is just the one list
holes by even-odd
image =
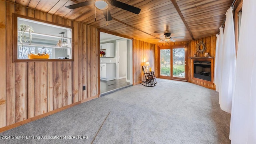
[[27, 65], [15, 64], [15, 122], [27, 119]]

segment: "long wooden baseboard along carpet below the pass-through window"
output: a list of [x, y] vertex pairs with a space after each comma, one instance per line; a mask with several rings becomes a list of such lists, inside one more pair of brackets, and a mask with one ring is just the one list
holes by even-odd
[[27, 124], [27, 123], [29, 123], [29, 122], [32, 122], [32, 121], [34, 121], [34, 120], [38, 120], [38, 119], [40, 119], [40, 118], [44, 118], [44, 117], [46, 117], [46, 116], [50, 116], [50, 115], [52, 115], [52, 114], [55, 114], [55, 113], [60, 112], [60, 111], [62, 111], [62, 110], [66, 110], [67, 108], [71, 108], [72, 106], [76, 106], [76, 105], [78, 105], [78, 104], [81, 104], [81, 101], [76, 102], [76, 103], [73, 103], [73, 104], [70, 104], [70, 105], [68, 105], [68, 106], [64, 106], [64, 107], [62, 107], [62, 108], [58, 108], [58, 109], [56, 109], [56, 110], [52, 110], [52, 111], [47, 112], [47, 113], [45, 113], [45, 114], [40, 114], [40, 115], [35, 116], [35, 117], [33, 117], [33, 118], [28, 118], [28, 119], [23, 120], [23, 121], [21, 121], [21, 122], [16, 122], [16, 123], [11, 124], [11, 125], [9, 125], [9, 126], [2, 127], [2, 128], [0, 128], [0, 132], [4, 132], [4, 131], [6, 131], [6, 130], [10, 130], [10, 129], [12, 129], [12, 128], [16, 128], [16, 127], [21, 126], [21, 125], [23, 125], [23, 124]]

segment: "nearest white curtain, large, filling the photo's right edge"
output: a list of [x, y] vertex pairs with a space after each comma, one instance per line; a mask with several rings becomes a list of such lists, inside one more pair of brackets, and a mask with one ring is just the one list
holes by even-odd
[[231, 144], [256, 144], [256, 0], [244, 0], [230, 122]]

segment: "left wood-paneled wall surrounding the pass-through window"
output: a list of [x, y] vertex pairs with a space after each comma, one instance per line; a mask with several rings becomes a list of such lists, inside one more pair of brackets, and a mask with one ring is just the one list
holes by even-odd
[[[0, 13], [0, 132], [98, 97], [96, 28], [4, 1]], [[12, 62], [12, 13], [74, 27], [74, 61]]]

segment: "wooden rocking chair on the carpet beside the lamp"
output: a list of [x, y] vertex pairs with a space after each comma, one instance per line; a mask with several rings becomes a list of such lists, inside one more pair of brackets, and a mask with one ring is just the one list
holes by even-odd
[[140, 84], [142, 84], [143, 86], [148, 86], [148, 87], [156, 86], [157, 82], [156, 82], [156, 76], [154, 74], [154, 71], [147, 72], [146, 66], [142, 66], [142, 70], [144, 72], [144, 76], [146, 79], [145, 81], [142, 81], [142, 82], [144, 82], [146, 84], [142, 84], [142, 83], [140, 83]]

